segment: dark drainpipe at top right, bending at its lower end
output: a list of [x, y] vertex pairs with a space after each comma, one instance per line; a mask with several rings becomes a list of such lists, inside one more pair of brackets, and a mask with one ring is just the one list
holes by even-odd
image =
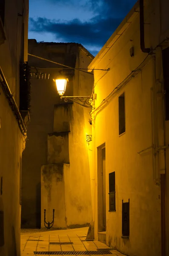
[[150, 48], [145, 48], [144, 41], [144, 0], [140, 0], [140, 48], [142, 52], [150, 53]]

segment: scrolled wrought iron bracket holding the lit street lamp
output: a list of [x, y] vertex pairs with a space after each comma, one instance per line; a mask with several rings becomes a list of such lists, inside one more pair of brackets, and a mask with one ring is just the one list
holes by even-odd
[[95, 109], [94, 105], [92, 104], [94, 99], [91, 96], [61, 96], [60, 99], [64, 99], [64, 102], [68, 102], [70, 100], [85, 108]]

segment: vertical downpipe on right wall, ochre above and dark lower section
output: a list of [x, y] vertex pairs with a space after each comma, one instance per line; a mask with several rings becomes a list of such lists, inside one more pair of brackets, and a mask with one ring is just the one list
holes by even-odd
[[[154, 88], [153, 88], [153, 102], [154, 102], [154, 152], [155, 160], [155, 183], [158, 185], [160, 180], [161, 189], [161, 256], [166, 256], [166, 203], [165, 203], [165, 180], [166, 180], [166, 163], [165, 150], [168, 145], [165, 145], [165, 115], [164, 115], [164, 98], [163, 98], [163, 83], [157, 78], [158, 68], [156, 65], [156, 58], [154, 59]], [[160, 67], [161, 68], [161, 67]], [[160, 178], [160, 179], [159, 179]]]

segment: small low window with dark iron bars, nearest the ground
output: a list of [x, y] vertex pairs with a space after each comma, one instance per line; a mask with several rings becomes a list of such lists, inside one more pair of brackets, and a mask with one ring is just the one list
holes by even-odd
[[129, 236], [129, 202], [122, 200], [122, 236]]

